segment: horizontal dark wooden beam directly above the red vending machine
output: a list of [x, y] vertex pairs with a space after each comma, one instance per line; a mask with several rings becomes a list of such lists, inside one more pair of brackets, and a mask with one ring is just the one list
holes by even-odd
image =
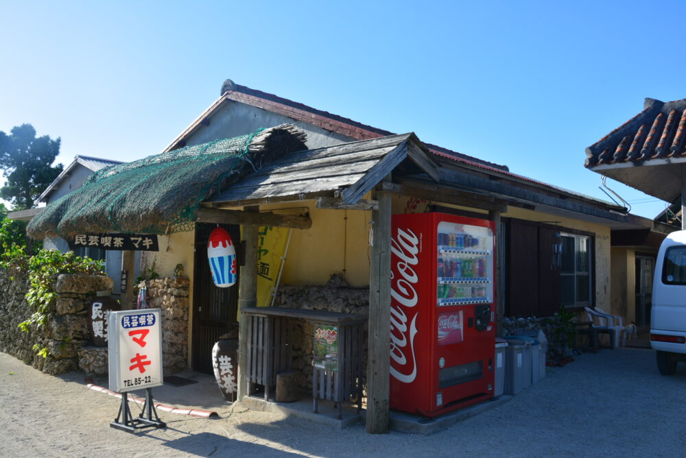
[[409, 195], [420, 199], [432, 200], [434, 202], [469, 206], [488, 211], [504, 212], [508, 208], [508, 202], [506, 200], [500, 200], [488, 195], [458, 191], [457, 189], [439, 186], [438, 184], [400, 180], [400, 184], [384, 182], [381, 185], [381, 189], [391, 193]]

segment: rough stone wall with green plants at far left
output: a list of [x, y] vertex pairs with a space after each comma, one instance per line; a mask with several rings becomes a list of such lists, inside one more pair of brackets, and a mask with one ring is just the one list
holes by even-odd
[[[33, 311], [24, 299], [27, 276], [10, 276], [0, 269], [0, 350], [47, 374], [62, 374], [78, 367], [78, 352], [86, 344], [86, 305], [95, 291], [112, 288], [106, 276], [60, 274], [54, 290], [57, 298], [48, 306], [47, 322], [34, 324], [29, 333], [19, 329]], [[47, 356], [36, 354], [47, 348]]]

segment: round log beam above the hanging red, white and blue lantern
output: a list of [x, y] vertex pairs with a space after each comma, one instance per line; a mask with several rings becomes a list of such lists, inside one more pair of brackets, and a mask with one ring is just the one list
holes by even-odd
[[221, 210], [219, 208], [198, 208], [196, 221], [198, 223], [244, 224], [296, 229], [312, 227], [312, 220], [307, 216], [276, 215], [276, 213], [271, 212], [257, 213], [244, 210]]

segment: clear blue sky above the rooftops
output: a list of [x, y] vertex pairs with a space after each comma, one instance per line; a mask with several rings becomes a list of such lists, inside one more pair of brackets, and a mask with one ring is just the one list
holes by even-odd
[[[686, 97], [685, 13], [677, 1], [0, 0], [0, 130], [61, 137], [65, 165], [134, 160], [231, 78], [606, 199], [584, 148], [644, 97]], [[665, 206], [611, 187], [637, 215]]]

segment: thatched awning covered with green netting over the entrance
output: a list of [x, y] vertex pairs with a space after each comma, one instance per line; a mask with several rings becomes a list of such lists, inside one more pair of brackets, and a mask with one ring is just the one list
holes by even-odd
[[200, 202], [272, 157], [305, 149], [292, 124], [193, 145], [115, 165], [49, 204], [27, 227], [34, 239], [58, 234], [169, 234], [193, 229]]

